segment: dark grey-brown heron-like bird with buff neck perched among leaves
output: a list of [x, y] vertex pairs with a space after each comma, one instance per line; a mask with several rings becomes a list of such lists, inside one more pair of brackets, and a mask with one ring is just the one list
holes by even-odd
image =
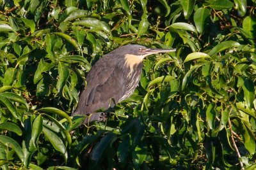
[[138, 86], [143, 59], [168, 52], [175, 52], [175, 49], [124, 45], [103, 55], [88, 72], [86, 87], [79, 94], [72, 116], [86, 115], [84, 124], [106, 120], [104, 111], [127, 99]]

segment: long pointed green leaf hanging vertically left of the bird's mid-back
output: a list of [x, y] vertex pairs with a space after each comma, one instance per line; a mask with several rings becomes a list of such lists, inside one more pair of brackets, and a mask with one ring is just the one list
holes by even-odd
[[68, 76], [69, 76], [69, 70], [68, 70], [68, 67], [63, 64], [63, 62], [59, 62], [58, 64], [58, 81], [57, 81], [57, 89], [58, 89], [58, 92], [61, 91], [61, 89], [64, 87], [64, 85], [66, 84], [66, 81], [68, 79]]

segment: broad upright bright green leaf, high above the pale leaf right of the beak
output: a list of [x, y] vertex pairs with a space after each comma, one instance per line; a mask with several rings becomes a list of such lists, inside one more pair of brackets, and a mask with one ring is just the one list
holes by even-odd
[[199, 8], [194, 13], [194, 22], [197, 31], [202, 34], [207, 24], [207, 18], [210, 17], [211, 11], [208, 8]]

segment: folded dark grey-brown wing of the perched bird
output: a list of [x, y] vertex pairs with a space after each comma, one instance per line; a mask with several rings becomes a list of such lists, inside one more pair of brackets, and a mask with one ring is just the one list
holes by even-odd
[[122, 70], [109, 65], [109, 62], [104, 59], [99, 60], [92, 67], [86, 81], [86, 89], [83, 90], [73, 115], [84, 115], [100, 109], [108, 109], [111, 100], [118, 102], [126, 88]]

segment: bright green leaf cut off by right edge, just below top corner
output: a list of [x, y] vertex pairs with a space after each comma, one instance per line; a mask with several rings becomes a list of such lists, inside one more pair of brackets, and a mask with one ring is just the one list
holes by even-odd
[[256, 18], [247, 16], [243, 20], [243, 30], [252, 38], [256, 38]]

